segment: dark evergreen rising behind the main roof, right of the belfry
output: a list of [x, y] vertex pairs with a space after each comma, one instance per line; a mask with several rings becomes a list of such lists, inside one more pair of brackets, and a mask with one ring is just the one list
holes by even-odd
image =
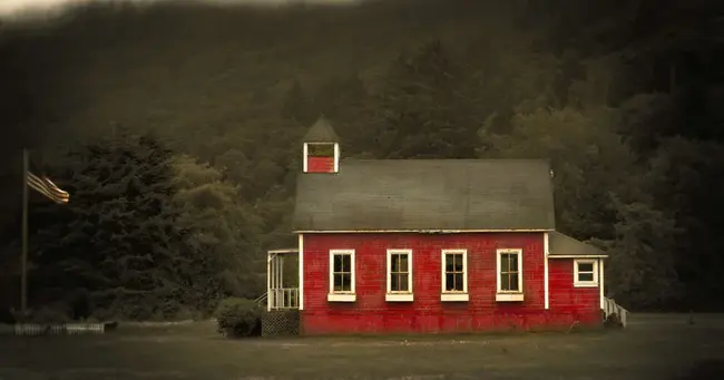
[[464, 82], [440, 41], [401, 55], [378, 94], [378, 130], [369, 145], [389, 158], [471, 158], [477, 126], [469, 117], [469, 99], [460, 92]]

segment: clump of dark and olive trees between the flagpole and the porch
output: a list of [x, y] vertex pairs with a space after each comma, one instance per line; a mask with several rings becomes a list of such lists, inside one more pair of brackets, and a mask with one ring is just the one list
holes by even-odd
[[31, 294], [75, 318], [172, 318], [254, 296], [257, 217], [218, 170], [125, 131], [74, 148], [55, 176], [72, 194], [31, 205]]

